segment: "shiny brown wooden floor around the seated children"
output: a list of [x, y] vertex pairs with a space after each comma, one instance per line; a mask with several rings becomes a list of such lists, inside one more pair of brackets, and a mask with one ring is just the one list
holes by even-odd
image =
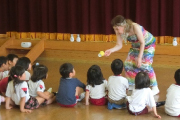
[[[53, 91], [59, 86], [59, 67], [64, 62], [71, 62], [76, 70], [76, 77], [86, 84], [86, 73], [88, 68], [97, 64], [101, 67], [104, 77], [108, 79], [112, 75], [110, 64], [115, 58], [125, 60], [127, 53], [113, 53], [110, 57], [97, 57], [98, 52], [90, 51], [68, 51], [68, 50], [47, 50], [35, 62], [44, 64], [49, 69], [49, 76], [46, 79], [46, 88], [52, 87]], [[157, 76], [160, 89], [159, 95], [155, 96], [156, 101], [166, 99], [166, 90], [174, 81], [174, 72], [180, 68], [180, 56], [155, 55], [153, 67]], [[124, 73], [123, 73], [124, 74]], [[130, 94], [130, 92], [129, 92]], [[164, 106], [157, 108], [163, 120], [179, 120], [165, 114]], [[130, 115], [124, 110], [108, 110], [106, 106], [84, 105], [84, 100], [74, 108], [62, 108], [53, 103], [48, 106], [33, 110], [32, 113], [21, 113], [19, 108], [6, 110], [4, 104], [0, 106], [0, 120], [153, 120], [153, 113], [141, 116]]]

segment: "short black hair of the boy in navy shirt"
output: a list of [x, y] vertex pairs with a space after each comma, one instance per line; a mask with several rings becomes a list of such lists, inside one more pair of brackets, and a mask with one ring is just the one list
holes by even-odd
[[60, 72], [62, 78], [68, 78], [69, 73], [72, 73], [73, 69], [74, 69], [74, 67], [71, 63], [64, 63], [61, 65], [59, 72]]

